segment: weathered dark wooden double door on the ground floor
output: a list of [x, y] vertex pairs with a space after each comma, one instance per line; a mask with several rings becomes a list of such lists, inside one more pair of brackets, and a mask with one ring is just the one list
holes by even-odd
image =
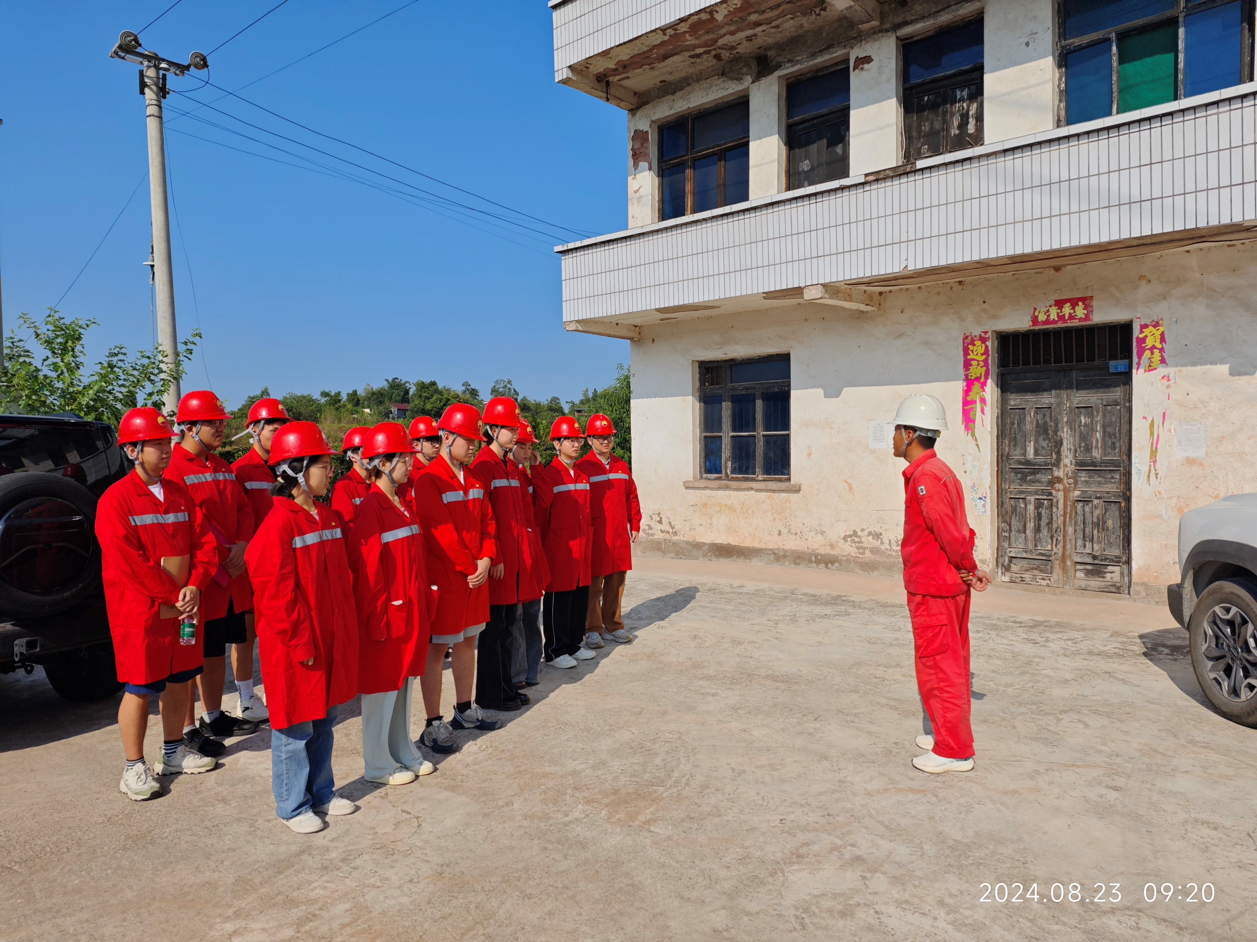
[[999, 369], [1002, 579], [1130, 592], [1130, 445], [1129, 372]]

